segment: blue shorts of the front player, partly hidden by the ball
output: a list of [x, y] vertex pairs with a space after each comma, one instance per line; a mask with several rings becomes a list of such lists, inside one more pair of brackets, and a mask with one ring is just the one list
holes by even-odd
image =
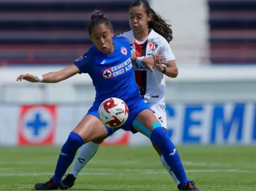
[[[138, 116], [139, 113], [141, 113], [143, 110], [150, 110], [150, 107], [148, 104], [145, 103], [144, 100], [139, 100], [139, 101], [135, 101], [131, 104], [126, 103], [128, 108], [129, 108], [129, 116], [126, 120], [126, 122], [124, 123], [124, 125], [122, 125], [120, 127], [120, 129], [123, 129], [125, 131], [131, 131], [132, 133], [137, 133], [138, 131], [136, 131], [133, 126], [132, 123], [133, 121], [136, 119], [136, 117]], [[87, 112], [86, 115], [91, 114], [97, 118], [99, 118], [99, 114], [98, 114], [98, 109], [99, 107], [91, 107], [89, 109], [89, 111]], [[107, 134], [111, 134], [113, 133], [117, 128], [108, 128], [107, 126], [105, 126], [106, 130], [107, 130]]]

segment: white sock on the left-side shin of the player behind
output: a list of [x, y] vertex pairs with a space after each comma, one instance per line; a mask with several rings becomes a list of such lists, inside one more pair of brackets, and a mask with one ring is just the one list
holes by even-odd
[[97, 150], [99, 150], [99, 147], [100, 144], [94, 143], [92, 141], [84, 144], [69, 174], [77, 177], [83, 167], [90, 161], [91, 158], [93, 158]]

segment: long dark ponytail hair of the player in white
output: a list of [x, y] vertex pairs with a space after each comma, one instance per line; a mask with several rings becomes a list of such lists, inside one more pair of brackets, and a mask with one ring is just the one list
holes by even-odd
[[133, 2], [130, 6], [132, 7], [143, 7], [146, 9], [147, 14], [152, 14], [152, 19], [149, 21], [149, 28], [156, 31], [156, 33], [160, 34], [167, 42], [173, 40], [173, 30], [170, 28], [172, 27], [170, 24], [167, 24], [159, 14], [157, 14], [153, 9], [150, 8], [150, 5], [147, 1], [144, 0], [137, 0]]

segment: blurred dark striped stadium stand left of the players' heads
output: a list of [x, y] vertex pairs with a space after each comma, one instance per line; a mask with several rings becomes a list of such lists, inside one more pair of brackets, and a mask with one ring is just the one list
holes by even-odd
[[0, 0], [0, 65], [71, 63], [91, 44], [91, 12], [103, 11], [117, 35], [130, 30], [131, 1]]

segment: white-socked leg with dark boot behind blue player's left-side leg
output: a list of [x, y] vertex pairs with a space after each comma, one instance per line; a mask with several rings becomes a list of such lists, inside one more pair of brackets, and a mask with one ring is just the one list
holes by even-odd
[[62, 180], [60, 183], [60, 189], [68, 189], [74, 186], [75, 180], [80, 173], [80, 171], [85, 167], [85, 165], [93, 158], [97, 150], [99, 150], [100, 144], [119, 128], [107, 128], [107, 135], [105, 137], [96, 139], [95, 141], [88, 142], [84, 144], [75, 160], [74, 165], [70, 173]]

